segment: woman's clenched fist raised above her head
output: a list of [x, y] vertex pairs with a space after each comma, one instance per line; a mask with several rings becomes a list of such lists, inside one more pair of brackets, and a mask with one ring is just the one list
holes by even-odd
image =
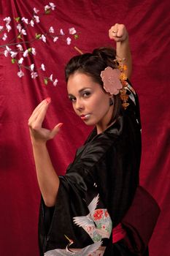
[[109, 29], [109, 38], [115, 40], [115, 42], [123, 42], [128, 39], [128, 31], [125, 29], [125, 25], [115, 23]]

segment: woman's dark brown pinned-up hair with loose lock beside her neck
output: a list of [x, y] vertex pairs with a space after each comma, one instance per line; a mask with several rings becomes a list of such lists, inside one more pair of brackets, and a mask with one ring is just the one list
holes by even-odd
[[[84, 53], [79, 56], [74, 56], [68, 64], [66, 64], [65, 75], [66, 83], [69, 80], [69, 76], [73, 75], [74, 72], [81, 72], [83, 74], [89, 75], [94, 82], [101, 85], [103, 89], [103, 81], [101, 80], [101, 71], [106, 67], [116, 68], [115, 60], [116, 51], [114, 48], [96, 48], [93, 53]], [[112, 123], [118, 116], [122, 109], [119, 94], [114, 96], [114, 110], [112, 118], [109, 124]]]

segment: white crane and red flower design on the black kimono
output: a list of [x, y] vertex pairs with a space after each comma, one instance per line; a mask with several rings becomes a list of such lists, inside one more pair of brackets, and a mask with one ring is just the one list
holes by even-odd
[[93, 244], [85, 246], [82, 249], [71, 249], [70, 246], [74, 241], [64, 235], [68, 240], [66, 249], [53, 249], [45, 252], [45, 256], [102, 256], [104, 255], [104, 247], [102, 249], [102, 238], [109, 238], [112, 233], [112, 220], [105, 208], [97, 208], [99, 195], [93, 198], [88, 205], [89, 214], [86, 216], [74, 217], [75, 225], [82, 227], [93, 240]]

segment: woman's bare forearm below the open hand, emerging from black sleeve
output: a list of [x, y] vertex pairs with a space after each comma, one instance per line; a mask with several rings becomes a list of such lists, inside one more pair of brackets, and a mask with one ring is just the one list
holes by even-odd
[[32, 143], [36, 176], [46, 206], [54, 206], [58, 194], [59, 178], [55, 173], [45, 143]]

